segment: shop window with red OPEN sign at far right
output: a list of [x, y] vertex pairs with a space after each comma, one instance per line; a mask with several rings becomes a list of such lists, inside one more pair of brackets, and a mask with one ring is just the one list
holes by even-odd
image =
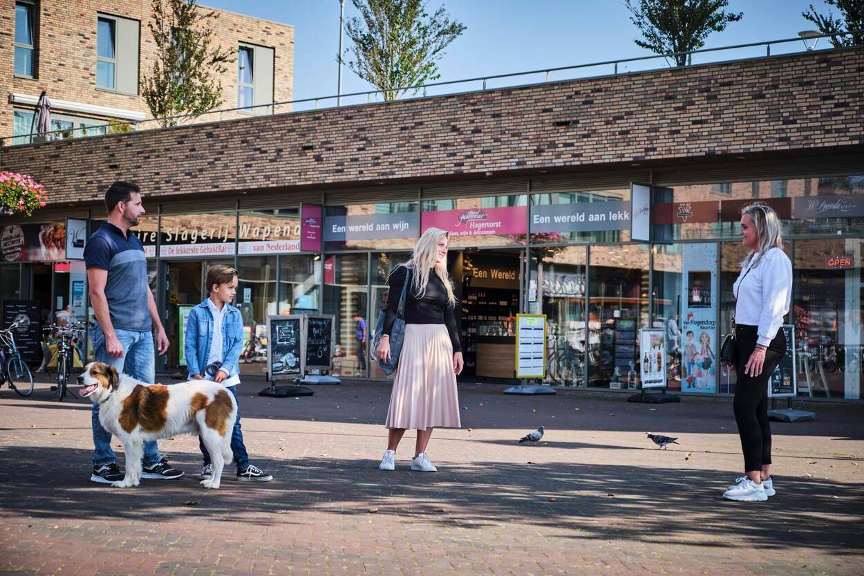
[[864, 240], [797, 240], [793, 302], [798, 396], [861, 398]]

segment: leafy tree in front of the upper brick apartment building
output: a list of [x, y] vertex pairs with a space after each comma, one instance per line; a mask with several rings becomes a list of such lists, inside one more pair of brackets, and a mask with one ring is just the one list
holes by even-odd
[[213, 44], [213, 11], [198, 10], [196, 0], [153, 0], [147, 27], [156, 42], [153, 70], [143, 77], [141, 96], [162, 126], [180, 114], [197, 116], [222, 104], [221, 74], [232, 52]]

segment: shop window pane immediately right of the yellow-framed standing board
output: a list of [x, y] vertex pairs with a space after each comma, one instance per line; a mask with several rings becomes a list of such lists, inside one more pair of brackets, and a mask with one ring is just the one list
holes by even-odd
[[546, 315], [548, 351], [546, 383], [551, 386], [584, 387], [588, 364], [599, 368], [600, 333], [588, 330], [585, 319], [587, 272], [585, 246], [556, 246], [532, 251], [532, 298], [540, 300]]

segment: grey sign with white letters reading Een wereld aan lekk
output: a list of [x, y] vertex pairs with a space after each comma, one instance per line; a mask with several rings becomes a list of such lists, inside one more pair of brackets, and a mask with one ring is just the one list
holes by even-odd
[[531, 233], [629, 230], [630, 202], [543, 204], [531, 207]]

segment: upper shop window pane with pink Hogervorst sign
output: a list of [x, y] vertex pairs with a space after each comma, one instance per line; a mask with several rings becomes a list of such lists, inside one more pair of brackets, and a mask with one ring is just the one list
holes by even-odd
[[423, 200], [421, 207], [421, 228], [447, 230], [451, 250], [525, 244], [528, 195]]

